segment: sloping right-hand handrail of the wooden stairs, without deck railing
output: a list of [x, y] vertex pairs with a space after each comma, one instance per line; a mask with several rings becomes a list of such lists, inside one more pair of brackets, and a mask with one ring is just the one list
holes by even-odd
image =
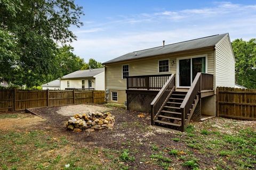
[[192, 82], [187, 95], [180, 105], [181, 111], [181, 132], [185, 130], [185, 119], [188, 117], [190, 112], [190, 106], [194, 103], [198, 92], [201, 91], [201, 72], [196, 74], [194, 81]]

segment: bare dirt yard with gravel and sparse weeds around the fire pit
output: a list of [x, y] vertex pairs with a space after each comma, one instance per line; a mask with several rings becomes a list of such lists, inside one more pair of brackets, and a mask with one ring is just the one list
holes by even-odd
[[[190, 123], [187, 132], [181, 133], [151, 126], [147, 113], [103, 105], [84, 106], [34, 108], [31, 111], [45, 117], [46, 121], [24, 114], [18, 118], [0, 119], [0, 126], [42, 130], [58, 137], [67, 137], [81, 146], [100, 148], [110, 159], [108, 161], [127, 165], [129, 169], [196, 169], [198, 166], [200, 169], [255, 168], [255, 121], [212, 118]], [[66, 130], [65, 122], [70, 116], [88, 111], [110, 111], [116, 117], [113, 129], [80, 133]], [[139, 116], [141, 114], [145, 117]], [[4, 125], [6, 122], [9, 125]], [[249, 154], [241, 155], [245, 149]], [[120, 153], [124, 150], [129, 150], [135, 160], [120, 162]], [[114, 156], [118, 162], [115, 162]], [[113, 168], [110, 166], [108, 169]]]

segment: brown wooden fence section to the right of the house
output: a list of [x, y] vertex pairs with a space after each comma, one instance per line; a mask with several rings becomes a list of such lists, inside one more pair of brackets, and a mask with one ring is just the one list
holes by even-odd
[[217, 87], [217, 114], [256, 120], [256, 89]]

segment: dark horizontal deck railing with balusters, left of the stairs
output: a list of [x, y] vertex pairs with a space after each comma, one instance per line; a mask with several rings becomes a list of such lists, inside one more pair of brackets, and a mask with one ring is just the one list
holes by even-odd
[[139, 75], [126, 78], [127, 89], [162, 89], [171, 74]]

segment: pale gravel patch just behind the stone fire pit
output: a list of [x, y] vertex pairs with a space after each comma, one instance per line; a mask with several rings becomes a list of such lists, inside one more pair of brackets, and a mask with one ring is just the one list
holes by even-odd
[[62, 116], [74, 116], [75, 114], [87, 114], [89, 112], [109, 112], [111, 108], [93, 105], [69, 105], [60, 107], [58, 114]]

